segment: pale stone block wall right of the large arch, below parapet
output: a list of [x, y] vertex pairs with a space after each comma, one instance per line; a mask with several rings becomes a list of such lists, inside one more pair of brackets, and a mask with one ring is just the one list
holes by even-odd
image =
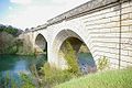
[[132, 65], [132, 1], [85, 15], [94, 57], [107, 56], [112, 68]]

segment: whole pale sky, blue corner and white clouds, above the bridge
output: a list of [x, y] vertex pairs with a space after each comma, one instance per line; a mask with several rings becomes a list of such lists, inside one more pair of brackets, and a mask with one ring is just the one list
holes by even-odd
[[0, 24], [35, 28], [89, 0], [0, 0]]

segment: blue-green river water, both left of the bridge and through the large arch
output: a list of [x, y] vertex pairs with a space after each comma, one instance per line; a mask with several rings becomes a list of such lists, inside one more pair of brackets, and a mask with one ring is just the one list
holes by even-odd
[[[20, 55], [0, 55], [0, 79], [7, 76], [7, 74], [19, 81], [20, 74], [32, 75], [31, 66], [35, 65], [36, 69], [47, 61], [46, 55], [37, 56], [20, 56]], [[84, 74], [89, 73], [89, 66], [95, 68], [95, 61], [91, 54], [80, 53], [78, 54], [78, 64], [80, 70]]]

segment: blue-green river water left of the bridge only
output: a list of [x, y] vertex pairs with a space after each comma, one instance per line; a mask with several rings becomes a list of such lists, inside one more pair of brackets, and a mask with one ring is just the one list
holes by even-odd
[[31, 75], [30, 67], [35, 65], [38, 69], [46, 62], [46, 55], [20, 56], [20, 55], [0, 55], [0, 79], [9, 75], [19, 80], [19, 75]]

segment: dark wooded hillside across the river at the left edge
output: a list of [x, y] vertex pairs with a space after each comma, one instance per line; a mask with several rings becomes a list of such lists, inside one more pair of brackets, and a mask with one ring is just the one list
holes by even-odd
[[16, 36], [22, 32], [11, 25], [0, 24], [0, 54], [15, 54], [20, 46]]

